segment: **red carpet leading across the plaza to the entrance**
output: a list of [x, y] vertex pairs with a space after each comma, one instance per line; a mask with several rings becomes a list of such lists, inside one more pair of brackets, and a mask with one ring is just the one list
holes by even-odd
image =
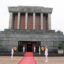
[[18, 64], [36, 64], [36, 61], [33, 57], [33, 53], [26, 52], [24, 57], [21, 59], [21, 61]]

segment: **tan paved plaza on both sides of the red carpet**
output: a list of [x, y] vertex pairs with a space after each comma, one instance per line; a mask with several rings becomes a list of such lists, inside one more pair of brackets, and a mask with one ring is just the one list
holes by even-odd
[[[23, 57], [0, 56], [0, 64], [17, 64]], [[45, 63], [45, 57], [34, 57], [37, 64], [64, 64], [64, 57], [49, 57], [48, 63]]]

